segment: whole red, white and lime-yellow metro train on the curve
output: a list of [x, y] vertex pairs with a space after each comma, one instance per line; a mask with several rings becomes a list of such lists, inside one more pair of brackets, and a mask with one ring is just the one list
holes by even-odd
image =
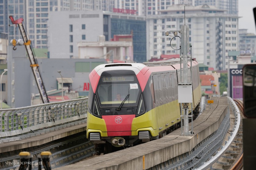
[[[201, 86], [199, 65], [191, 63], [195, 115]], [[98, 154], [158, 139], [180, 127], [180, 60], [102, 64], [89, 79], [87, 138]]]

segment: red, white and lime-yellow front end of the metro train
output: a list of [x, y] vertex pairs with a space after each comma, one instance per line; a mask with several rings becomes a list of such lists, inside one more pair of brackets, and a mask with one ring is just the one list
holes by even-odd
[[103, 64], [90, 73], [87, 138], [97, 144], [98, 153], [133, 146], [140, 142], [138, 129], [151, 126], [136, 121], [147, 110], [143, 95], [145, 77], [149, 77], [146, 68], [139, 63]]

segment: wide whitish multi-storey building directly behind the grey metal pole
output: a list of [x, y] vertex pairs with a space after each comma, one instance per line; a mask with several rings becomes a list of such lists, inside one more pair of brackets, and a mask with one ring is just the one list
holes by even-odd
[[[210, 5], [172, 5], [160, 10], [160, 15], [147, 17], [147, 59], [161, 54], [180, 54], [180, 38], [165, 36], [166, 31], [189, 26], [192, 57], [216, 70], [225, 70], [225, 58], [229, 50], [238, 49], [238, 16], [224, 15], [225, 10]], [[225, 38], [224, 38], [225, 37]], [[228, 37], [228, 39], [226, 39]]]

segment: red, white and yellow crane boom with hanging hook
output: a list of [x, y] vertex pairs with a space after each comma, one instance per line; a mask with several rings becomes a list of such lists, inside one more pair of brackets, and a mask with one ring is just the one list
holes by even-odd
[[[34, 74], [34, 77], [36, 79], [37, 87], [38, 87], [42, 102], [43, 103], [49, 103], [49, 99], [48, 99], [48, 96], [47, 96], [47, 93], [46, 93], [46, 90], [45, 90], [45, 87], [44, 87], [43, 79], [42, 79], [41, 74], [40, 74], [37, 59], [36, 59], [36, 57], [35, 57], [35, 55], [32, 51], [31, 40], [29, 40], [27, 38], [26, 31], [25, 31], [24, 26], [22, 24], [23, 18], [17, 19], [16, 21], [14, 21], [12, 16], [9, 16], [9, 18], [12, 21], [12, 24], [15, 24], [15, 25], [19, 26], [21, 36], [23, 38], [24, 45], [25, 45], [26, 50], [27, 50], [27, 54], [29, 56], [30, 67], [31, 67], [32, 72]], [[15, 50], [16, 49], [15, 48], [15, 46], [16, 46], [16, 40], [15, 39], [12, 40], [12, 45], [14, 46], [13, 49]]]

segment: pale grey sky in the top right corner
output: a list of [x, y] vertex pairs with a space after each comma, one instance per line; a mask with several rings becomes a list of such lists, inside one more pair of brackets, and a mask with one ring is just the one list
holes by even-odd
[[253, 8], [256, 8], [256, 0], [238, 0], [239, 29], [248, 29], [248, 33], [256, 34]]

